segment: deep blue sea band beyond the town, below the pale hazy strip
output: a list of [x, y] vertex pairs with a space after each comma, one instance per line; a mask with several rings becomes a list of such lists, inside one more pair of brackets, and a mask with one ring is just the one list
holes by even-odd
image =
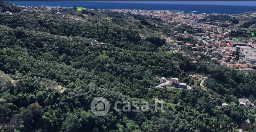
[[[198, 5], [196, 3], [191, 3], [190, 5], [186, 4], [147, 4], [147, 3], [138, 3], [134, 4], [132, 2], [128, 3], [102, 3], [95, 1], [9, 1], [5, 2], [13, 3], [20, 6], [45, 6], [45, 7], [83, 7], [86, 9], [131, 9], [131, 10], [149, 10], [149, 11], [170, 11], [170, 12], [184, 12], [185, 14], [194, 13], [217, 13], [217, 14], [241, 14], [249, 11], [256, 11], [255, 6], [244, 6], [244, 5]], [[216, 10], [218, 8], [218, 10]]]

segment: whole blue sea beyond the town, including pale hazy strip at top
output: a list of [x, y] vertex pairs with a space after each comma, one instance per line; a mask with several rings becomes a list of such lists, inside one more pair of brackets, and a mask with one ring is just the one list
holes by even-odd
[[4, 0], [24, 6], [84, 7], [89, 9], [141, 9], [183, 11], [184, 13], [239, 14], [256, 11], [256, 1], [77, 1], [77, 0]]

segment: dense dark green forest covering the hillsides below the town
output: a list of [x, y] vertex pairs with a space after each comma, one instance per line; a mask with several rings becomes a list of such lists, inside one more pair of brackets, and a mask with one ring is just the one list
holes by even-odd
[[[256, 72], [162, 51], [162, 38], [174, 25], [96, 9], [66, 9], [63, 16], [41, 9], [23, 13], [23, 7], [4, 2], [0, 8], [0, 89], [9, 87], [0, 93], [1, 124], [18, 116], [20, 132], [214, 132], [213, 123], [242, 123], [247, 116], [255, 121], [256, 110], [248, 112], [238, 98], [253, 101]], [[208, 77], [208, 89], [191, 74]], [[156, 76], [177, 77], [192, 90], [153, 88]], [[111, 107], [96, 116], [90, 103], [100, 96], [111, 106], [148, 101], [154, 107], [158, 98], [165, 111]], [[220, 107], [223, 102], [229, 105]]]

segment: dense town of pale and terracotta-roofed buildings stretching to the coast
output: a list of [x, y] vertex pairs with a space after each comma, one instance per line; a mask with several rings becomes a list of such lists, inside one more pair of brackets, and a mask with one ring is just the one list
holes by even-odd
[[[179, 45], [183, 44], [175, 40], [169, 41], [172, 38], [171, 36], [181, 36], [184, 39], [193, 39], [194, 41], [197, 41], [198, 44], [195, 44], [195, 47], [193, 47], [193, 44], [190, 43], [185, 44], [187, 48], [197, 48], [197, 50], [193, 50], [192, 52], [193, 54], [197, 55], [197, 60], [201, 59], [202, 56], [206, 56], [210, 57], [211, 61], [214, 62], [220, 60], [223, 66], [229, 66], [243, 70], [248, 69], [245, 68], [245, 66], [241, 66], [241, 64], [246, 62], [256, 63], [256, 52], [254, 52], [255, 49], [251, 49], [252, 47], [256, 47], [256, 44], [253, 41], [249, 42], [248, 38], [246, 37], [238, 37], [240, 41], [236, 42], [236, 37], [229, 36], [229, 32], [231, 32], [233, 29], [231, 30], [226, 29], [225, 27], [222, 28], [216, 26], [216, 24], [219, 22], [215, 20], [204, 20], [203, 22], [201, 21], [205, 16], [215, 16], [219, 14], [184, 14], [182, 11], [171, 12], [130, 9], [111, 9], [110, 11], [139, 14], [149, 18], [158, 18], [163, 20], [163, 23], [166, 24], [176, 24], [176, 27], [188, 27], [193, 30], [198, 30], [198, 32], [195, 32], [194, 34], [188, 33], [188, 30], [180, 33], [174, 31], [173, 35], [170, 35], [170, 37], [166, 39], [166, 42], [169, 42], [173, 48], [177, 48]], [[230, 25], [231, 23], [228, 22], [227, 24]], [[256, 40], [256, 37], [252, 37], [251, 39]], [[235, 54], [236, 47], [241, 48], [239, 58]], [[203, 50], [201, 49], [203, 48], [207, 49], [207, 51], [202, 52]], [[235, 65], [233, 66], [233, 64]]]

